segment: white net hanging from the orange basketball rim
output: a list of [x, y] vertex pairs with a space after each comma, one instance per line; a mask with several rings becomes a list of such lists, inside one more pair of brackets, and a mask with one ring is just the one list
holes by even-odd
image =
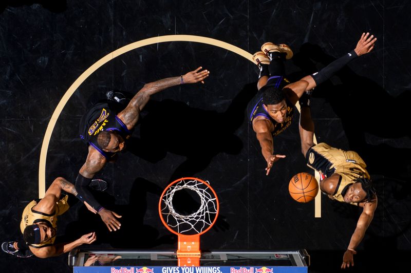
[[[178, 191], [193, 191], [199, 197], [199, 208], [189, 215], [176, 212], [173, 197]], [[184, 201], [184, 200], [183, 200]], [[161, 198], [161, 214], [166, 224], [175, 232], [184, 235], [199, 234], [210, 227], [218, 212], [218, 201], [208, 186], [208, 181], [182, 179], [171, 185]]]

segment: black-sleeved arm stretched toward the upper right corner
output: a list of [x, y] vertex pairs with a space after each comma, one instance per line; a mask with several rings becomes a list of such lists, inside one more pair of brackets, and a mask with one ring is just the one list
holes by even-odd
[[289, 88], [290, 91], [294, 93], [290, 94], [290, 92], [287, 91], [288, 95], [291, 97], [291, 102], [296, 103], [298, 98], [301, 98], [305, 91], [311, 90], [317, 85], [320, 85], [320, 83], [331, 78], [336, 72], [342, 69], [351, 60], [369, 53], [374, 48], [376, 41], [377, 38], [375, 38], [374, 35], [370, 35], [368, 32], [363, 33], [354, 50], [348, 52], [337, 60], [334, 60], [333, 62], [331, 62], [331, 64], [323, 68], [321, 71], [302, 78], [300, 81], [305, 81], [306, 83], [308, 83], [305, 88], [303, 88], [304, 85], [298, 83], [299, 81], [287, 85], [285, 88]]

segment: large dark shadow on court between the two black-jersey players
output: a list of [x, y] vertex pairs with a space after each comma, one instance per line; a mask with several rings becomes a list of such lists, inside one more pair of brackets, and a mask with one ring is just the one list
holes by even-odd
[[223, 113], [196, 109], [174, 100], [150, 100], [127, 150], [155, 163], [167, 153], [186, 157], [169, 181], [195, 176], [207, 169], [219, 153], [237, 155], [244, 144], [235, 134], [245, 122], [246, 107], [257, 92], [255, 83], [245, 85]]

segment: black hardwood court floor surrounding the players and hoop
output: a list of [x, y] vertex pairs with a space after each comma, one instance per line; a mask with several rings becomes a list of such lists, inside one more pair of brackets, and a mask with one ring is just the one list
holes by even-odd
[[[95, 231], [98, 240], [85, 248], [175, 249], [177, 238], [161, 223], [158, 202], [169, 183], [191, 176], [210, 181], [220, 202], [218, 220], [201, 237], [201, 248], [306, 249], [309, 272], [343, 271], [343, 254], [362, 210], [322, 195], [321, 217], [315, 217], [314, 202], [290, 197], [291, 177], [314, 173], [301, 153], [298, 112], [274, 138], [275, 152], [287, 157], [266, 176], [246, 112], [257, 92], [259, 70], [252, 61], [217, 44], [172, 40], [110, 55], [89, 75], [83, 73], [135, 42], [193, 35], [251, 55], [267, 41], [287, 44], [294, 56], [286, 71], [296, 81], [346, 54], [370, 32], [378, 38], [375, 48], [314, 89], [315, 137], [356, 151], [378, 194], [355, 265], [345, 272], [409, 272], [410, 12], [405, 0], [3, 1], [2, 242], [22, 237], [22, 212], [39, 198], [42, 177], [46, 188], [59, 176], [76, 181], [87, 156], [79, 122], [92, 101], [110, 90], [135, 94], [142, 83], [202, 66], [211, 72], [204, 84], [152, 96], [128, 149], [96, 176], [108, 182], [97, 198], [122, 215], [120, 230], [110, 233], [79, 202], [59, 217], [58, 240]], [[75, 88], [71, 94], [70, 88]], [[17, 258], [0, 251], [1, 271], [72, 272], [67, 256]]]

